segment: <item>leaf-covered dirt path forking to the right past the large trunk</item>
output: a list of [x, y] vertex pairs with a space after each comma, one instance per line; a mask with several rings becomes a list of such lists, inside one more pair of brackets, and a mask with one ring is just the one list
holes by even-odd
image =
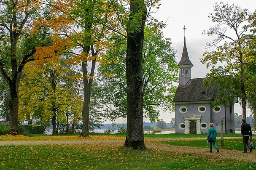
[[[240, 137], [232, 137], [240, 138]], [[248, 162], [256, 162], [256, 150], [252, 153], [244, 154], [243, 151], [226, 150], [220, 149], [217, 153], [213, 149], [213, 153], [209, 153], [208, 148], [195, 148], [187, 146], [171, 146], [159, 143], [152, 143], [152, 141], [170, 141], [170, 140], [205, 140], [205, 138], [146, 138], [145, 143], [147, 148], [170, 151], [174, 153], [191, 153], [192, 155], [211, 158], [211, 159], [237, 159]], [[101, 140], [101, 141], [0, 141], [0, 146], [10, 146], [10, 145], [57, 145], [57, 144], [97, 144], [101, 146], [122, 146], [124, 140]], [[242, 143], [241, 143], [242, 145]]]

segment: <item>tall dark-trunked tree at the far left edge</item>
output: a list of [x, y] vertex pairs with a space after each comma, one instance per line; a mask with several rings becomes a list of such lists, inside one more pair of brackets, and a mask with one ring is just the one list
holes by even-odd
[[35, 38], [35, 33], [32, 32], [35, 19], [43, 14], [40, 8], [40, 4], [34, 0], [0, 2], [0, 73], [8, 82], [10, 89], [12, 134], [16, 134], [18, 130], [19, 82], [22, 70], [25, 64], [35, 60], [35, 48], [43, 37]]

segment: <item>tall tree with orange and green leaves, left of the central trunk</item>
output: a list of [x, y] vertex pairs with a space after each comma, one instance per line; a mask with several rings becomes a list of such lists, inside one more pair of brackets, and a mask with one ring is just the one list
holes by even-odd
[[[115, 10], [111, 8], [111, 2], [60, 0], [47, 4], [54, 13], [47, 23], [60, 39], [72, 41], [72, 45], [66, 48], [66, 52], [73, 54], [69, 64], [81, 63], [84, 84], [83, 136], [89, 135], [89, 108], [96, 63], [104, 56], [104, 49], [111, 46], [107, 43], [108, 36], [122, 30], [119, 24], [115, 25], [118, 20], [113, 15]], [[59, 26], [59, 22], [62, 25]]]

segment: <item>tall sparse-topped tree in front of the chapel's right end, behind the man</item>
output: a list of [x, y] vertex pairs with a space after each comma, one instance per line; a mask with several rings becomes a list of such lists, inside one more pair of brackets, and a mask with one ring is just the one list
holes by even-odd
[[[209, 17], [217, 25], [210, 27], [204, 34], [217, 36], [212, 43], [208, 44], [208, 47], [213, 45], [218, 45], [218, 47], [216, 51], [205, 52], [205, 58], [201, 60], [202, 63], [207, 63], [207, 68], [211, 68], [211, 72], [207, 74], [213, 78], [211, 80], [216, 82], [229, 81], [229, 83], [219, 84], [219, 86], [223, 86], [223, 89], [230, 89], [229, 93], [239, 97], [244, 118], [246, 118], [246, 102], [251, 89], [248, 84], [249, 77], [245, 73], [248, 66], [255, 62], [249, 53], [245, 38], [249, 16], [248, 10], [241, 9], [238, 5], [216, 3], [214, 13], [210, 14]], [[222, 40], [226, 40], [223, 45], [220, 44]], [[224, 64], [216, 67], [217, 63]], [[224, 87], [224, 85], [227, 86]], [[230, 96], [228, 95], [228, 97]]]

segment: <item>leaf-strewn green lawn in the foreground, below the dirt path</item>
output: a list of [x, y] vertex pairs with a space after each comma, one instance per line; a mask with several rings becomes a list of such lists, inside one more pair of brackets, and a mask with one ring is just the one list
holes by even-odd
[[[211, 158], [210, 158], [211, 159]], [[189, 153], [135, 151], [97, 145], [0, 146], [0, 169], [256, 169], [255, 163], [196, 157]]]

